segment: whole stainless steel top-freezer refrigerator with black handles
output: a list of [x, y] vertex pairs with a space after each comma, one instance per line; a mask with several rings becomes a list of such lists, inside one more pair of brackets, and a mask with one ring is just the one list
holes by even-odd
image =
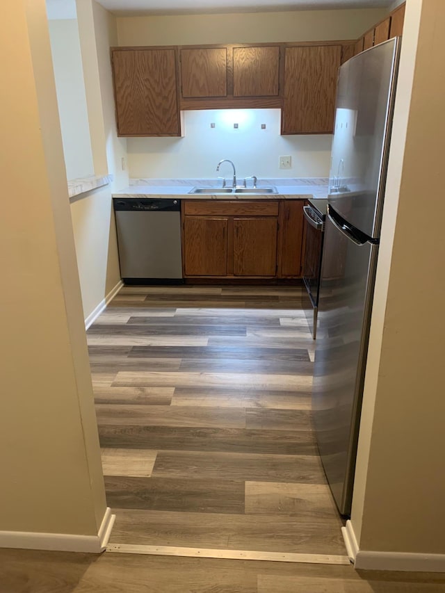
[[312, 409], [343, 515], [353, 494], [399, 44], [391, 39], [339, 69]]

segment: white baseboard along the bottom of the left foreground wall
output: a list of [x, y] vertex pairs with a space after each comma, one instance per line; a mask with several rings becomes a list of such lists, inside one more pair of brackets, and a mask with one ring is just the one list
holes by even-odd
[[107, 507], [97, 535], [0, 531], [0, 548], [100, 554], [106, 549], [114, 521], [115, 515]]

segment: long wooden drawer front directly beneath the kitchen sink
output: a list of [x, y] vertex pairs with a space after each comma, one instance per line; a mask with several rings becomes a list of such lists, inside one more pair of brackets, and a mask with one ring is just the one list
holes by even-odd
[[184, 214], [191, 216], [278, 216], [279, 202], [184, 202]]

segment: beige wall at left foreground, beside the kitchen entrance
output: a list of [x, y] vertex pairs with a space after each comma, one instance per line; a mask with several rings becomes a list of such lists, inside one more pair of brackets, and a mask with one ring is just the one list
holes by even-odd
[[0, 526], [97, 535], [106, 503], [44, 1], [2, 3], [0, 40]]

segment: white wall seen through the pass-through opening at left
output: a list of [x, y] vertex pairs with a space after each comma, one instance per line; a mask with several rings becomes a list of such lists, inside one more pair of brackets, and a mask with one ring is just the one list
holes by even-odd
[[67, 179], [88, 177], [94, 166], [77, 20], [49, 20], [49, 36]]

